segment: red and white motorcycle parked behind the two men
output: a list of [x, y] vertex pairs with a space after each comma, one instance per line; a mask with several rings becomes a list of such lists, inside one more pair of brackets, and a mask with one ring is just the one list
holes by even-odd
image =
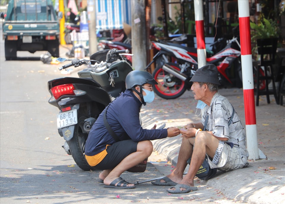
[[[220, 42], [222, 40], [216, 41], [212, 46]], [[197, 49], [175, 43], [152, 43], [159, 52], [145, 69], [156, 63], [153, 77], [159, 84], [154, 86], [154, 91], [165, 99], [178, 98], [191, 88], [192, 83], [189, 80], [198, 68]], [[171, 60], [172, 62], [169, 62]], [[208, 64], [217, 66], [222, 86], [242, 87], [240, 47], [237, 38], [229, 40], [224, 49], [207, 57], [206, 60]]]

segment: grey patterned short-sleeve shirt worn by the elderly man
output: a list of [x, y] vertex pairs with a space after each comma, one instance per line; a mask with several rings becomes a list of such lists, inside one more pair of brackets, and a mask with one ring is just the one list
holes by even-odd
[[[217, 92], [213, 95], [210, 106], [206, 107], [201, 122], [205, 126], [206, 118], [209, 116], [206, 130], [212, 131], [217, 137], [228, 138], [225, 142], [232, 143], [232, 148], [238, 148], [238, 153], [242, 157], [244, 164], [246, 164], [248, 159], [248, 151], [246, 150], [246, 133], [243, 125], [241, 124], [240, 118], [235, 111], [232, 122], [228, 125], [232, 114], [233, 107], [231, 103], [227, 98]], [[221, 145], [219, 144], [219, 146]], [[221, 152], [217, 153], [219, 154]]]

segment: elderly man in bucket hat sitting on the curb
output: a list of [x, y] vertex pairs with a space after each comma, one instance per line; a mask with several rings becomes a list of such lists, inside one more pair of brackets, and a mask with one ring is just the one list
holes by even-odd
[[[186, 131], [180, 131], [183, 139], [176, 168], [164, 178], [152, 182], [155, 185], [176, 185], [167, 189], [170, 193], [197, 190], [194, 187], [194, 177], [205, 155], [211, 168], [222, 171], [248, 165], [245, 131], [231, 103], [218, 92], [220, 83], [217, 67], [213, 64], [203, 66], [190, 81], [193, 82], [191, 90], [195, 100], [203, 101], [206, 108], [200, 122], [188, 124], [184, 126]], [[205, 131], [201, 131], [204, 126]], [[189, 171], [183, 177], [190, 157]]]

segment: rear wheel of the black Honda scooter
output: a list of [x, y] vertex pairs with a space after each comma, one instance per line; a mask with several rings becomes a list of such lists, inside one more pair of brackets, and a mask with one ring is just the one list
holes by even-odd
[[75, 126], [75, 134], [71, 140], [67, 141], [67, 144], [69, 145], [71, 155], [77, 166], [84, 171], [89, 171], [95, 169], [88, 164], [84, 156], [85, 142], [88, 137], [88, 133], [86, 133], [83, 129], [85, 119], [86, 117], [81, 116], [79, 112], [78, 123]]

